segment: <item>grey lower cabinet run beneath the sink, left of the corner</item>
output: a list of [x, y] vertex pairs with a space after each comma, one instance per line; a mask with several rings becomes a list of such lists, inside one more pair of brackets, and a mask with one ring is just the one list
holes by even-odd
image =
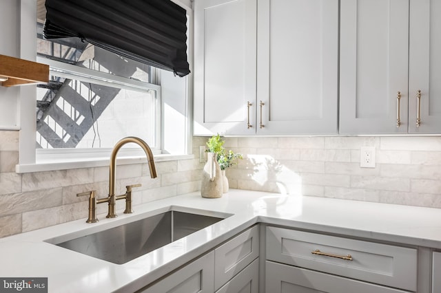
[[258, 256], [254, 226], [139, 292], [257, 293]]

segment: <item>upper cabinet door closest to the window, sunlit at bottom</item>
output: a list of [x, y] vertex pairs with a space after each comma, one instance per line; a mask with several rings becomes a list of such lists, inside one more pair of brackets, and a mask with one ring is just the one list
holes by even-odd
[[256, 13], [256, 0], [194, 1], [194, 134], [255, 133]]

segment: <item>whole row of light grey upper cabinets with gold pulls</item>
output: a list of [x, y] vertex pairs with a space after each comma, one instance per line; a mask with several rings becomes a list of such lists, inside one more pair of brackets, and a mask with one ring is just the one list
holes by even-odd
[[196, 135], [441, 133], [441, 1], [195, 0], [194, 13]]

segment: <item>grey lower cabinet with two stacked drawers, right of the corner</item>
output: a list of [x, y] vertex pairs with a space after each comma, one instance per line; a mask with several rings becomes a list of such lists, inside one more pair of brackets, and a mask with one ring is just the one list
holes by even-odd
[[[267, 227], [266, 239], [267, 292], [297, 292], [280, 291], [285, 281], [318, 290], [299, 292], [416, 292], [414, 248], [276, 227]], [[342, 291], [340, 284], [360, 291]]]

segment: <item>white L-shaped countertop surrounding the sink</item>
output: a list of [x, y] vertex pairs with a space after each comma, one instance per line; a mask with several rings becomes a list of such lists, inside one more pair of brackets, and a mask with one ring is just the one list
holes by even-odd
[[[122, 265], [44, 242], [72, 239], [71, 233], [87, 235], [170, 206], [232, 216]], [[441, 209], [256, 191], [230, 190], [218, 199], [190, 193], [136, 206], [130, 215], [99, 219], [96, 224], [81, 219], [0, 239], [0, 276], [48, 277], [49, 292], [134, 291], [258, 222], [441, 249]]]

